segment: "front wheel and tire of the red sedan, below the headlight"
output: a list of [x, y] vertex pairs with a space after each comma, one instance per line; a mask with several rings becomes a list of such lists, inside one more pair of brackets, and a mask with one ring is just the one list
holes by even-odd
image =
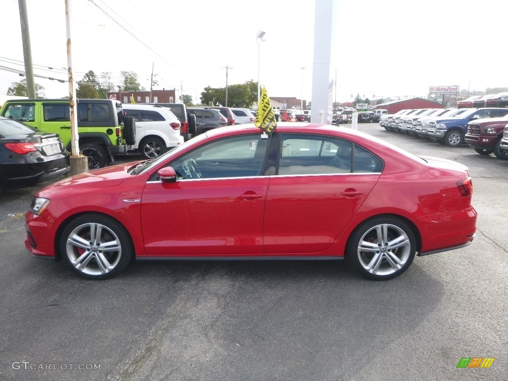
[[[97, 232], [100, 237], [95, 236]], [[134, 252], [129, 233], [117, 220], [94, 213], [72, 220], [63, 230], [59, 246], [62, 259], [87, 279], [117, 275], [131, 262]]]

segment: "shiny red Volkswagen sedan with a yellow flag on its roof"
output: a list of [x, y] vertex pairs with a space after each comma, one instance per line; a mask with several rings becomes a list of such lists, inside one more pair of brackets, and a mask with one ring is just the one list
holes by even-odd
[[351, 129], [219, 128], [152, 161], [106, 167], [39, 192], [26, 248], [107, 278], [133, 258], [343, 259], [390, 279], [419, 256], [469, 244], [467, 168]]

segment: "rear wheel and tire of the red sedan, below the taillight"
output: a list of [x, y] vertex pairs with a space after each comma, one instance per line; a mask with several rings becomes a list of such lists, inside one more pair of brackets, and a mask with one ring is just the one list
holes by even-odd
[[346, 248], [353, 267], [374, 280], [399, 276], [411, 265], [415, 253], [415, 233], [403, 220], [392, 216], [366, 220], [351, 234]]

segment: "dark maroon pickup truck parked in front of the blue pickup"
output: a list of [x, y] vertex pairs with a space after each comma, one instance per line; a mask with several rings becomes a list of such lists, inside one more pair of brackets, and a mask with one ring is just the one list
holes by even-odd
[[508, 151], [500, 148], [504, 126], [508, 116], [502, 118], [477, 119], [467, 123], [464, 141], [481, 155], [494, 153], [497, 158], [508, 159]]

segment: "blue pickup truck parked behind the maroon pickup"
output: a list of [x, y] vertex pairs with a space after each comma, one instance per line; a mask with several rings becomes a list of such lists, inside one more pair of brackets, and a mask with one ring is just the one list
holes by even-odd
[[435, 141], [442, 141], [449, 147], [458, 147], [464, 142], [467, 123], [475, 119], [496, 118], [508, 114], [508, 108], [466, 109], [459, 116], [436, 118], [429, 122], [427, 135]]

